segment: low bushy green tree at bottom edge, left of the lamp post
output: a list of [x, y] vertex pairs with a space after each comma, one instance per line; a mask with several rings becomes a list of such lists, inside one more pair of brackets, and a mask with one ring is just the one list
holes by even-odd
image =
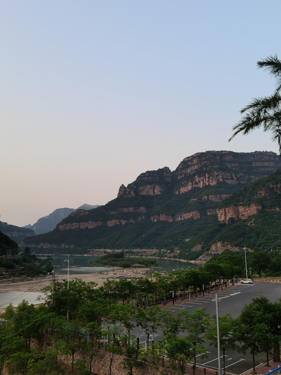
[[182, 338], [171, 335], [168, 337], [168, 344], [163, 345], [163, 349], [166, 351], [171, 361], [169, 367], [178, 375], [183, 375], [185, 373], [185, 366], [190, 362], [193, 356], [190, 341], [186, 337]]

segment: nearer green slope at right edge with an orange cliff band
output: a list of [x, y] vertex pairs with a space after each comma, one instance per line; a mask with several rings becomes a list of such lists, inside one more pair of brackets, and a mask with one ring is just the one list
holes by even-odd
[[261, 178], [238, 192], [217, 207], [218, 219], [196, 239], [188, 243], [188, 249], [200, 247], [281, 250], [281, 170]]

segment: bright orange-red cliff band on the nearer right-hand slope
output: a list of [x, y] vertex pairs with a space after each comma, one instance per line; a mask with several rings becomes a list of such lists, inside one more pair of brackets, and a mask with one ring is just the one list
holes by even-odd
[[229, 207], [224, 208], [217, 208], [217, 214], [218, 214], [218, 221], [225, 221], [227, 222], [230, 217], [233, 217], [233, 219], [237, 220], [240, 219], [247, 219], [247, 217], [254, 215], [262, 208], [261, 204], [253, 203], [248, 206], [244, 205], [231, 205]]

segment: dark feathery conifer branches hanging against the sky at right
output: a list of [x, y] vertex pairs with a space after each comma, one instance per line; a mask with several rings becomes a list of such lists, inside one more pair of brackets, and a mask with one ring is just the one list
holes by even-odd
[[245, 135], [262, 127], [264, 132], [271, 131], [272, 139], [278, 142], [281, 154], [281, 61], [278, 60], [277, 55], [269, 56], [265, 60], [258, 61], [257, 66], [265, 68], [269, 74], [277, 78], [277, 88], [273, 95], [255, 98], [240, 111], [244, 116], [233, 126], [235, 132], [229, 141], [240, 132]]

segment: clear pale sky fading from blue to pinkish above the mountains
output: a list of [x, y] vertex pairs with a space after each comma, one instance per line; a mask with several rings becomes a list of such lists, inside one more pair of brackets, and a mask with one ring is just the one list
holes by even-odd
[[228, 142], [239, 111], [273, 93], [280, 1], [0, 2], [0, 220], [105, 204], [147, 170]]

